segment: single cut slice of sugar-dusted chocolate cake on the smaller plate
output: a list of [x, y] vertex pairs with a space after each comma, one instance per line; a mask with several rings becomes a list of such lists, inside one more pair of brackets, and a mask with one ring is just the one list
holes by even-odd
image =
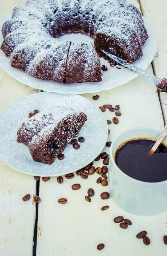
[[72, 138], [78, 137], [86, 120], [85, 113], [71, 108], [50, 108], [23, 122], [17, 140], [29, 147], [34, 161], [52, 164]]

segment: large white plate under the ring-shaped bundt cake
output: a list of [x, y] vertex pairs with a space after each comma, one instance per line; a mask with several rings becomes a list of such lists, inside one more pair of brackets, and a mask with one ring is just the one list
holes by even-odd
[[[5, 20], [0, 24], [0, 29], [3, 26], [3, 23], [6, 20], [9, 20], [11, 18], [11, 15], [6, 17]], [[144, 17], [143, 17], [144, 18]], [[148, 65], [153, 60], [153, 57], [156, 52], [156, 36], [155, 32], [153, 31], [150, 24], [144, 19], [144, 24], [147, 29], [149, 38], [147, 39], [146, 43], [143, 46], [143, 57], [140, 58], [138, 61], [135, 61], [133, 64], [137, 67], [142, 68], [145, 70]], [[92, 38], [86, 35], [64, 35], [59, 38], [61, 41], [71, 40], [71, 41], [81, 41], [83, 39], [93, 41]], [[3, 41], [3, 36], [0, 33], [0, 44]], [[27, 84], [30, 87], [44, 90], [47, 92], [55, 92], [55, 93], [72, 93], [72, 94], [83, 94], [83, 93], [95, 93], [102, 90], [109, 90], [114, 87], [117, 87], [118, 85], [125, 84], [128, 81], [134, 79], [138, 76], [137, 73], [131, 72], [131, 70], [128, 70], [127, 68], [121, 67], [121, 69], [117, 69], [116, 67], [110, 67], [108, 61], [104, 60], [104, 58], [101, 58], [101, 65], [104, 64], [108, 67], [107, 72], [103, 73], [102, 81], [98, 83], [74, 83], [74, 84], [60, 84], [58, 82], [53, 81], [46, 81], [46, 80], [40, 80], [36, 79], [25, 72], [15, 69], [11, 67], [9, 58], [7, 58], [3, 51], [0, 50], [0, 67], [2, 67], [3, 70], [5, 70], [10, 76], [12, 76], [14, 79], [17, 79], [20, 83]], [[120, 66], [119, 66], [120, 67]]]

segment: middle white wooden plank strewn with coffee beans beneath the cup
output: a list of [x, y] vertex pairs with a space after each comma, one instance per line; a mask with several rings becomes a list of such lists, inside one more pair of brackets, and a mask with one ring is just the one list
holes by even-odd
[[[147, 71], [151, 73], [152, 67], [150, 66]], [[100, 95], [97, 101], [92, 100], [95, 94], [88, 93], [83, 96], [97, 106], [121, 105], [122, 116], [119, 117], [119, 124], [109, 125], [109, 141], [128, 128], [148, 126], [161, 130], [164, 126], [155, 85], [144, 77], [138, 76], [120, 87], [97, 93]], [[111, 120], [115, 116], [109, 111], [104, 112], [104, 115], [106, 119]], [[109, 148], [105, 147], [104, 151], [109, 152]], [[94, 162], [94, 165], [98, 167], [102, 166], [102, 163]], [[83, 180], [76, 174], [71, 180], [63, 176], [62, 184], [57, 183], [56, 177], [51, 177], [48, 182], [40, 180], [41, 203], [38, 214], [37, 255], [96, 256], [99, 255], [96, 249], [99, 243], [105, 244], [105, 248], [100, 252], [101, 255], [152, 256], [157, 255], [160, 248], [161, 255], [164, 255], [166, 248], [163, 247], [162, 237], [166, 230], [164, 224], [166, 213], [149, 218], [139, 217], [118, 208], [111, 198], [106, 201], [101, 200], [101, 192], [108, 191], [108, 187], [97, 184], [98, 177], [96, 173], [89, 176], [87, 180]], [[81, 189], [73, 191], [71, 186], [74, 183], [80, 183]], [[84, 198], [89, 188], [95, 190], [91, 203]], [[68, 199], [67, 204], [58, 204], [58, 199], [62, 197]], [[101, 211], [104, 205], [109, 205], [109, 209]], [[118, 215], [130, 218], [133, 225], [127, 230], [121, 230], [118, 224], [112, 221]], [[142, 241], [135, 238], [135, 235], [144, 229], [149, 232], [152, 240], [150, 247], [146, 247]]]

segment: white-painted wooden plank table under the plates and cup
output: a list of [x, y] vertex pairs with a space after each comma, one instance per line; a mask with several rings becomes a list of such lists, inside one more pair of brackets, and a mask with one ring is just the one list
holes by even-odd
[[[158, 77], [167, 77], [167, 1], [130, 0], [155, 29], [158, 49], [147, 71]], [[17, 5], [26, 0], [0, 0], [1, 19], [12, 12]], [[26, 84], [20, 84], [0, 69], [0, 111], [21, 97], [36, 93]], [[92, 100], [96, 93], [84, 94]], [[109, 125], [109, 140], [128, 128], [147, 126], [162, 130], [167, 116], [167, 94], [158, 97], [155, 84], [138, 76], [136, 79], [115, 89], [98, 93], [100, 99], [94, 101], [98, 106], [104, 104], [121, 105], [122, 116], [118, 125]], [[107, 119], [112, 113], [104, 113]], [[104, 148], [109, 151], [109, 148]], [[96, 162], [95, 167], [102, 166]], [[70, 166], [69, 166], [70, 172]], [[117, 207], [112, 199], [100, 199], [101, 192], [107, 187], [96, 183], [98, 174], [87, 180], [75, 175], [71, 180], [64, 179], [58, 184], [56, 177], [37, 183], [32, 176], [24, 175], [0, 161], [0, 256], [157, 256], [166, 255], [167, 246], [163, 236], [167, 235], [167, 212], [150, 217], [130, 215]], [[81, 189], [73, 191], [72, 184], [81, 183]], [[95, 196], [92, 202], [85, 201], [87, 189], [92, 187]], [[31, 199], [22, 201], [27, 193]], [[32, 203], [33, 195], [39, 193], [39, 205]], [[68, 198], [68, 203], [60, 205], [58, 198]], [[101, 207], [109, 209], [101, 211]], [[132, 226], [127, 230], [113, 223], [113, 218], [123, 215], [131, 219]], [[36, 224], [36, 225], [35, 225]], [[147, 230], [151, 244], [145, 246], [136, 239], [136, 234]], [[35, 241], [35, 243], [34, 243]], [[104, 243], [101, 251], [97, 244]], [[33, 250], [34, 246], [34, 250]]]

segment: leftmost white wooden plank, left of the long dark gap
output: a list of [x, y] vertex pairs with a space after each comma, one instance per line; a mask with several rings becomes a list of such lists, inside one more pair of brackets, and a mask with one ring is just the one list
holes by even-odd
[[[0, 17], [3, 19], [15, 6], [25, 2], [26, 0], [1, 0]], [[20, 84], [0, 69], [0, 112], [15, 100], [35, 92], [37, 90]], [[28, 193], [31, 195], [30, 200], [23, 202], [22, 197]], [[1, 256], [32, 255], [36, 218], [32, 198], [35, 193], [34, 177], [16, 172], [0, 160]]]

